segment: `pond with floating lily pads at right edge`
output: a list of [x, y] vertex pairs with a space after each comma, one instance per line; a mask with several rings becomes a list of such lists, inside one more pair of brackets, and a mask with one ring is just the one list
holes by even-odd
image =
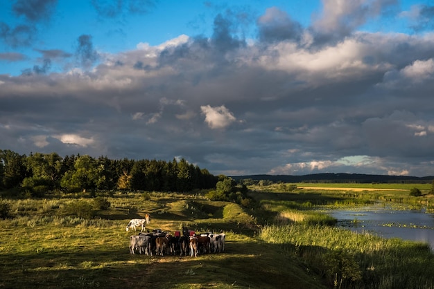
[[434, 214], [424, 210], [396, 210], [383, 205], [351, 209], [331, 209], [326, 213], [338, 226], [355, 232], [374, 232], [385, 238], [422, 241], [434, 250]]

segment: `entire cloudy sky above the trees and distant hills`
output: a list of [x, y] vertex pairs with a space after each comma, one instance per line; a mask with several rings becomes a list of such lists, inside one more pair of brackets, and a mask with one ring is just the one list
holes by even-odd
[[2, 0], [0, 149], [434, 176], [434, 1]]

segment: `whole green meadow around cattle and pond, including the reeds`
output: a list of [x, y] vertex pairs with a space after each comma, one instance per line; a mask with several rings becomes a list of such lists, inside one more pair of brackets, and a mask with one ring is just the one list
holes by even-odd
[[[3, 198], [10, 216], [0, 220], [0, 288], [434, 288], [426, 244], [355, 234], [315, 211], [378, 201], [431, 204], [430, 196], [275, 186], [250, 187], [251, 207], [200, 192]], [[106, 206], [95, 205], [101, 201]], [[226, 250], [196, 258], [131, 255], [125, 225], [146, 213], [148, 230], [225, 232]]]

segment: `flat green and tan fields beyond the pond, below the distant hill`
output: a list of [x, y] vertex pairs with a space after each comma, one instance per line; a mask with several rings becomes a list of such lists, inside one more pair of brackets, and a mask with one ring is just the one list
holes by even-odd
[[[420, 209], [434, 212], [432, 184], [358, 184], [358, 183], [297, 183], [252, 185], [250, 196], [264, 205], [284, 202], [294, 209], [311, 207], [352, 207], [388, 203], [396, 209]], [[410, 190], [420, 189], [422, 196], [410, 196]], [[286, 194], [290, 193], [290, 194]]]

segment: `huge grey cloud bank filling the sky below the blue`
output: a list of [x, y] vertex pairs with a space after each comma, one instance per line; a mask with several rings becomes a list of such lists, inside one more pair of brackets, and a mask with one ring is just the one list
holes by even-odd
[[[358, 32], [394, 1], [367, 1], [360, 12], [340, 3], [342, 13], [325, 9], [315, 22], [323, 29], [268, 10], [257, 42], [232, 11], [217, 14], [209, 38], [108, 56], [81, 35], [75, 56], [86, 69], [66, 73], [49, 73], [50, 64], [69, 53], [37, 50], [29, 73], [0, 75], [0, 145], [183, 157], [213, 174], [434, 175], [432, 35]], [[318, 45], [318, 35], [329, 38]]]

